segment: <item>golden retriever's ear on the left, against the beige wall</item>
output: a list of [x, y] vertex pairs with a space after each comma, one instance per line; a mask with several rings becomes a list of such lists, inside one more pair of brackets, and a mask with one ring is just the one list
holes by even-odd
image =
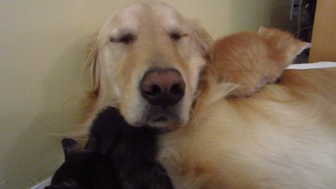
[[90, 69], [91, 76], [91, 92], [99, 91], [100, 83], [100, 64], [99, 64], [99, 43], [97, 36], [90, 44], [90, 49], [86, 58], [86, 68]]

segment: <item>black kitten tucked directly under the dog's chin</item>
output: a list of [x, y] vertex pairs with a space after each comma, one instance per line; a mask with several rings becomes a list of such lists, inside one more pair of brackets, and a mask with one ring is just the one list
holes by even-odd
[[122, 188], [173, 188], [165, 169], [155, 160], [158, 151], [152, 127], [132, 127], [118, 109], [108, 107], [93, 121], [85, 148], [109, 155]]

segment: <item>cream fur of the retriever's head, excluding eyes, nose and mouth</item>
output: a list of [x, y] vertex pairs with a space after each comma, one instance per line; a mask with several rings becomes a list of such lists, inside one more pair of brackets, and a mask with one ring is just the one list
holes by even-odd
[[[181, 35], [177, 41], [172, 38], [175, 33]], [[132, 43], [118, 42], [127, 35], [134, 36]], [[87, 59], [92, 73], [89, 99], [94, 101], [87, 105], [87, 127], [97, 110], [107, 105], [118, 107], [134, 126], [188, 123], [210, 43], [207, 31], [164, 3], [145, 1], [120, 10], [102, 27]], [[153, 68], [174, 68], [186, 82], [179, 119], [160, 125], [146, 122], [147, 102], [139, 92], [141, 78]]]

